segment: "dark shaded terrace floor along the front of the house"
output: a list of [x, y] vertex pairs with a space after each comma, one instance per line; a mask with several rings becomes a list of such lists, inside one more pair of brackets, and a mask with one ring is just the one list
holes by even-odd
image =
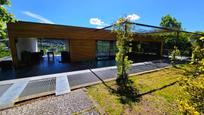
[[[138, 55], [138, 57], [139, 56], [140, 58], [137, 58], [137, 60], [134, 60], [134, 63], [161, 59], [157, 56], [151, 56], [151, 58], [147, 56], [145, 58], [145, 57], [142, 57], [142, 55]], [[94, 69], [94, 68], [115, 66], [114, 59], [92, 60], [92, 61], [73, 62], [73, 63], [61, 63], [60, 61], [61, 61], [60, 56], [55, 56], [53, 61], [48, 61], [47, 57], [43, 57], [40, 63], [32, 66], [26, 66], [21, 68], [6, 68], [0, 71], [0, 76], [1, 76], [0, 81], [39, 76], [39, 75], [79, 71], [79, 70], [85, 70], [89, 68]]]

